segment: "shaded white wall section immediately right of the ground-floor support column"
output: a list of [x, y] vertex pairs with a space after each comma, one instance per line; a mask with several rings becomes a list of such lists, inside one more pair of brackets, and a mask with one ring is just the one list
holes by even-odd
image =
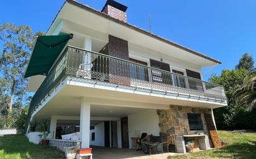
[[[91, 140], [91, 133], [95, 132], [95, 140]], [[103, 146], [105, 145], [105, 137], [104, 137], [104, 122], [101, 122], [94, 126], [94, 130], [90, 130], [89, 135], [89, 144], [94, 146]]]

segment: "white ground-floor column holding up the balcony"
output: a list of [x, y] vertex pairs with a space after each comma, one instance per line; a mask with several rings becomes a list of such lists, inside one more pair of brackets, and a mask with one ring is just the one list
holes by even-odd
[[81, 98], [80, 111], [80, 140], [81, 148], [89, 148], [89, 126], [90, 126], [91, 104], [85, 98]]

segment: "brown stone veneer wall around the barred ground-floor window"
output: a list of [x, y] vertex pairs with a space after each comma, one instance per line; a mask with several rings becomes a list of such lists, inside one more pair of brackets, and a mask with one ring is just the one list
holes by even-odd
[[[200, 113], [204, 129], [190, 131], [187, 113]], [[208, 135], [204, 113], [211, 114], [211, 109], [196, 108], [191, 106], [171, 106], [169, 110], [157, 110], [159, 117], [159, 127], [161, 132], [169, 134], [168, 143], [175, 144], [175, 137], [188, 134], [198, 134], [203, 132]]]

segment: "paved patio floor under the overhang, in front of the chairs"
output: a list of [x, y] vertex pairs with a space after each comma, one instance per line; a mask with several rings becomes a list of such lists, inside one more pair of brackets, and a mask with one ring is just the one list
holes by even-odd
[[93, 159], [166, 159], [169, 155], [178, 153], [160, 153], [156, 155], [146, 155], [142, 151], [130, 150], [128, 148], [107, 148], [92, 147]]

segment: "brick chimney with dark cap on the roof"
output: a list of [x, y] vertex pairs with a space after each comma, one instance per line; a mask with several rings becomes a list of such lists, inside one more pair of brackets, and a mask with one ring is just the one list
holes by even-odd
[[101, 12], [127, 23], [127, 6], [113, 0], [107, 0]]

